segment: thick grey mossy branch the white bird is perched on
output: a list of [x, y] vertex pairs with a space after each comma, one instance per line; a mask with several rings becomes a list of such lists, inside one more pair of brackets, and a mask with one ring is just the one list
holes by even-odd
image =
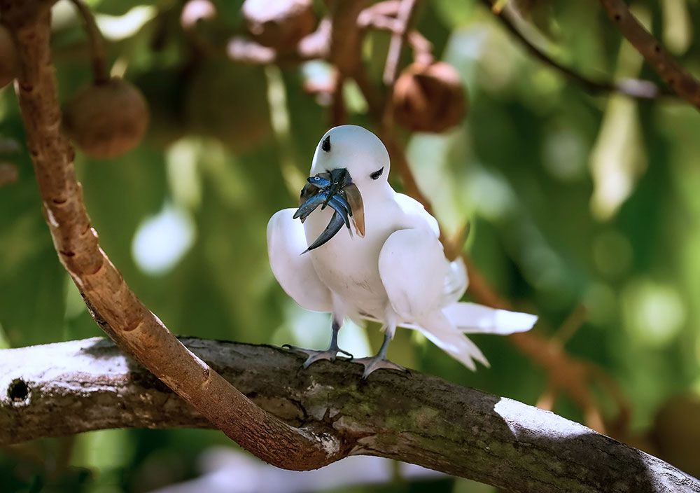
[[[274, 347], [183, 342], [279, 419], [331, 426], [351, 454], [412, 462], [512, 492], [700, 491], [700, 481], [645, 452], [436, 377], [379, 371], [363, 382], [354, 363], [300, 370], [302, 356]], [[1, 444], [92, 429], [209, 425], [101, 338], [4, 349], [0, 375]]]

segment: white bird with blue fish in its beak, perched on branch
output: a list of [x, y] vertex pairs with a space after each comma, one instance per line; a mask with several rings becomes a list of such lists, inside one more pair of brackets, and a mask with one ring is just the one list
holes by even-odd
[[[468, 284], [464, 263], [447, 261], [435, 218], [396, 193], [388, 174], [377, 136], [356, 125], [332, 128], [316, 147], [301, 207], [278, 211], [267, 224], [269, 263], [282, 289], [307, 310], [332, 313], [330, 347], [302, 349], [309, 355], [304, 368], [339, 352], [351, 356], [337, 345], [346, 318], [373, 319], [385, 331], [375, 356], [355, 360], [365, 366], [363, 377], [403, 370], [386, 359], [397, 326], [421, 331], [471, 370], [474, 360], [489, 366], [464, 334], [528, 331], [537, 317], [459, 303]], [[344, 225], [348, 232], [340, 231]]]

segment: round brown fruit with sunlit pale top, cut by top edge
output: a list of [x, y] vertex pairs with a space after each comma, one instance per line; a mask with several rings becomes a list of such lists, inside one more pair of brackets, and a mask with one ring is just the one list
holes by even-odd
[[316, 25], [311, 0], [246, 0], [242, 12], [255, 41], [281, 53], [294, 50]]

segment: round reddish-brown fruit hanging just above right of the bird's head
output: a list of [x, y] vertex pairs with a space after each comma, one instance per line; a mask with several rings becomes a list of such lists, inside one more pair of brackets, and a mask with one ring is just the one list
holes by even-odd
[[444, 132], [458, 125], [467, 104], [459, 74], [444, 62], [411, 64], [394, 85], [394, 117], [416, 132]]

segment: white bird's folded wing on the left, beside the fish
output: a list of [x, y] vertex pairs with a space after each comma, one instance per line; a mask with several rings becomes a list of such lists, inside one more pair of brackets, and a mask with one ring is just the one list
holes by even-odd
[[330, 291], [318, 279], [307, 249], [304, 226], [295, 221], [295, 209], [277, 211], [267, 223], [267, 255], [274, 277], [282, 289], [301, 307], [331, 312]]

